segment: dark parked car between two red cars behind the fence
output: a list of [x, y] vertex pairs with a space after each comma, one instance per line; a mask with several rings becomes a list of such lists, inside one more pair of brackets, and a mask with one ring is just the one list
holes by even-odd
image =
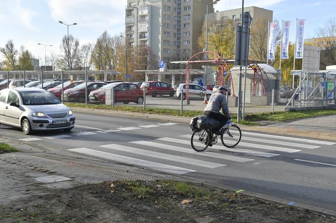
[[66, 89], [64, 93], [64, 101], [75, 101], [75, 102], [85, 102], [85, 98], [88, 95], [85, 95], [86, 84], [88, 84], [88, 95], [91, 91], [97, 90], [102, 86], [106, 85], [104, 82], [88, 82], [81, 83], [73, 88]]

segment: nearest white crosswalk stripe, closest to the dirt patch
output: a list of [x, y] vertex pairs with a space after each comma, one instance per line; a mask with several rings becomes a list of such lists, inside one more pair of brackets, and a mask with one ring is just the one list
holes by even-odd
[[166, 165], [162, 163], [157, 163], [157, 162], [151, 162], [151, 161], [146, 161], [142, 159], [136, 159], [128, 156], [122, 156], [122, 155], [116, 155], [113, 153], [109, 152], [103, 152], [103, 151], [98, 151], [94, 149], [88, 149], [88, 148], [75, 148], [75, 149], [68, 149], [69, 151], [73, 152], [78, 152], [82, 154], [87, 154], [87, 155], [92, 155], [92, 156], [97, 156], [109, 160], [114, 160], [117, 162], [122, 162], [122, 163], [128, 163], [132, 165], [138, 165], [138, 166], [144, 166], [145, 168], [150, 168], [158, 171], [163, 171], [167, 173], [172, 173], [172, 174], [187, 174], [187, 173], [192, 173], [196, 172], [194, 170], [186, 169], [186, 168], [180, 168], [178, 166], [173, 166], [173, 165]]

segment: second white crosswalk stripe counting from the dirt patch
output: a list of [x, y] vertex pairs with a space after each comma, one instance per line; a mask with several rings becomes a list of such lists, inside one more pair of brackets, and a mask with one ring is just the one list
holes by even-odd
[[208, 162], [208, 161], [203, 161], [199, 159], [191, 159], [191, 158], [187, 158], [183, 156], [170, 155], [166, 153], [154, 152], [154, 151], [145, 150], [145, 149], [137, 149], [134, 147], [117, 145], [117, 144], [102, 145], [100, 147], [109, 148], [113, 150], [119, 150], [123, 152], [135, 153], [139, 155], [150, 156], [150, 157], [159, 158], [159, 159], [166, 159], [170, 161], [188, 163], [188, 164], [203, 166], [206, 168], [218, 168], [220, 166], [225, 166], [225, 164], [221, 164], [221, 163]]

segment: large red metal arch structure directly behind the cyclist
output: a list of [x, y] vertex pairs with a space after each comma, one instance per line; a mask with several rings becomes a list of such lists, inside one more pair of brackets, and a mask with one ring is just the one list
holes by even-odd
[[[218, 73], [217, 73], [218, 84], [223, 86], [225, 85], [225, 83], [231, 82], [231, 95], [235, 96], [231, 71], [225, 60], [217, 53], [211, 51], [201, 51], [193, 55], [187, 62], [186, 99], [189, 98], [190, 65], [192, 64], [198, 64], [204, 66], [218, 66]], [[223, 76], [224, 71], [226, 72], [225, 76]]]

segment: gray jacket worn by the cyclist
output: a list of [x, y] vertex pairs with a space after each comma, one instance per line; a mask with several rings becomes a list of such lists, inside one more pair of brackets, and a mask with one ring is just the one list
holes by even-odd
[[213, 113], [219, 113], [222, 108], [223, 114], [228, 117], [232, 118], [232, 116], [229, 113], [228, 103], [226, 101], [225, 94], [222, 94], [221, 92], [217, 92], [215, 94], [212, 94], [209, 98], [209, 101], [207, 102], [206, 107], [204, 108], [204, 111], [208, 110]]

